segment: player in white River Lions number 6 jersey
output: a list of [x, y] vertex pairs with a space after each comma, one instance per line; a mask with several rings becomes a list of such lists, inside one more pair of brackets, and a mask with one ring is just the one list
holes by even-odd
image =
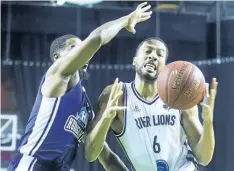
[[[104, 89], [96, 118], [90, 124], [95, 129], [87, 135], [93, 155], [102, 150], [111, 127], [136, 171], [194, 171], [197, 161], [209, 164], [215, 144], [213, 110], [218, 83], [212, 79], [210, 96], [202, 104], [202, 127], [197, 106], [184, 111], [171, 109], [157, 95], [157, 76], [167, 57], [168, 48], [162, 40], [146, 39], [133, 59], [135, 80], [131, 83], [116, 80], [113, 86]], [[127, 110], [105, 113], [110, 91], [116, 86], [116, 93], [124, 92], [118, 105], [127, 106]]]

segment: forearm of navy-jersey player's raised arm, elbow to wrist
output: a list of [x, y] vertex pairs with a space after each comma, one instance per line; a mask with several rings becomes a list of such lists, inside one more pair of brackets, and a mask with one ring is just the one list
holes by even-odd
[[102, 26], [95, 29], [91, 33], [91, 35], [99, 34], [101, 36], [102, 45], [104, 45], [108, 43], [110, 40], [112, 40], [119, 33], [120, 30], [122, 30], [127, 26], [128, 18], [129, 16], [124, 16], [117, 20], [105, 23]]

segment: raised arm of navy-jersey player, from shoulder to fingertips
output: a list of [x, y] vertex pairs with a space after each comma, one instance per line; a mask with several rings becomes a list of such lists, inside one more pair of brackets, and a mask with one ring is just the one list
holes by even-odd
[[[71, 38], [66, 44], [74, 47], [64, 56], [58, 58], [46, 73], [42, 85], [42, 94], [45, 97], [59, 97], [65, 94], [70, 78], [83, 67], [99, 48], [111, 41], [120, 30], [126, 28], [134, 33], [137, 23], [148, 20], [152, 12], [147, 12], [150, 6], [142, 3], [127, 16], [105, 23], [92, 31], [82, 42]], [[78, 76], [77, 76], [78, 77]], [[76, 78], [79, 81], [80, 78]]]

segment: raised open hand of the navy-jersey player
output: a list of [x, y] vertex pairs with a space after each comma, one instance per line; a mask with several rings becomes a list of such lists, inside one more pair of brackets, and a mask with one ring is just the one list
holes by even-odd
[[150, 9], [150, 5], [147, 5], [147, 2], [141, 3], [137, 6], [136, 10], [128, 15], [128, 25], [126, 29], [135, 34], [135, 25], [142, 21], [146, 21], [151, 17], [152, 11], [148, 11]]

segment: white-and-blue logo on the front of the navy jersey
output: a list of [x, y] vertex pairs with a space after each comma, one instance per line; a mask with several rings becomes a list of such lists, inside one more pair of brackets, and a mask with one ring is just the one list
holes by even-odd
[[80, 143], [85, 129], [89, 121], [89, 110], [86, 110], [86, 107], [83, 107], [80, 113], [77, 113], [76, 117], [70, 115], [64, 125], [64, 130], [71, 132]]

